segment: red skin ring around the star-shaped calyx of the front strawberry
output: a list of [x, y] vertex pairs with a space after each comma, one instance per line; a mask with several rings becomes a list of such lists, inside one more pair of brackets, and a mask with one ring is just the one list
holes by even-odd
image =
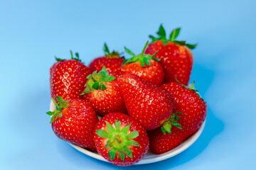
[[[100, 137], [97, 135], [96, 130], [107, 130], [106, 128], [106, 123], [110, 123], [110, 125], [114, 125], [115, 120], [120, 120], [121, 121], [121, 129], [125, 126], [128, 125], [129, 123], [132, 123], [130, 132], [137, 130], [139, 132], [139, 136], [134, 138], [133, 140], [137, 141], [141, 147], [137, 146], [129, 146], [129, 149], [132, 150], [133, 154], [133, 159], [130, 157], [127, 157], [125, 155], [124, 162], [122, 162], [122, 159], [118, 157], [118, 154], [116, 154], [116, 157], [113, 160], [110, 160], [110, 157], [108, 155], [108, 151], [110, 149], [105, 148], [106, 145], [106, 138]], [[139, 162], [146, 152], [148, 152], [149, 149], [149, 138], [146, 135], [146, 131], [140, 125], [137, 123], [136, 120], [133, 118], [129, 117], [128, 115], [124, 115], [123, 113], [110, 113], [106, 115], [104, 118], [102, 118], [96, 125], [95, 127], [95, 133], [94, 133], [94, 140], [97, 148], [97, 152], [99, 152], [102, 157], [107, 159], [107, 161], [112, 162], [112, 164], [117, 165], [117, 166], [129, 166], [132, 164], [136, 164]]]

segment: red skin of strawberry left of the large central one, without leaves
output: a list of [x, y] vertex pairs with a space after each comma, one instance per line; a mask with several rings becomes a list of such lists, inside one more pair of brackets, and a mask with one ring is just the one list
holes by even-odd
[[[110, 75], [117, 77], [117, 74], [114, 73], [110, 73]], [[105, 85], [107, 89], [103, 91], [98, 89], [83, 95], [85, 101], [88, 101], [95, 108], [97, 115], [100, 116], [105, 116], [111, 112], [127, 113], [117, 80], [105, 82]]]

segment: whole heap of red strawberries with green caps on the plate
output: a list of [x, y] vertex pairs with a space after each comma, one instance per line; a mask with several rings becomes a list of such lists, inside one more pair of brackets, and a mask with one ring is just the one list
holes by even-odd
[[193, 135], [207, 108], [193, 84], [188, 87], [196, 45], [176, 40], [179, 31], [168, 39], [160, 26], [141, 54], [124, 47], [132, 55], [126, 60], [107, 45], [89, 67], [78, 53], [56, 58], [50, 68], [56, 109], [48, 112], [55, 135], [118, 166], [136, 164], [149, 149], [168, 152]]

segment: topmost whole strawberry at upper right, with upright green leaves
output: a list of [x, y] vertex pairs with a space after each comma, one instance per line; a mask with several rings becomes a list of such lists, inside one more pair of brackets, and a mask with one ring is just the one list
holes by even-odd
[[196, 45], [187, 44], [185, 41], [175, 40], [181, 28], [174, 30], [170, 39], [166, 39], [166, 32], [163, 26], [160, 26], [157, 34], [159, 38], [152, 38], [151, 44], [146, 48], [146, 54], [153, 55], [161, 59], [161, 65], [164, 68], [164, 81], [172, 82], [178, 79], [182, 84], [188, 85], [189, 77], [193, 66], [193, 55], [190, 49]]

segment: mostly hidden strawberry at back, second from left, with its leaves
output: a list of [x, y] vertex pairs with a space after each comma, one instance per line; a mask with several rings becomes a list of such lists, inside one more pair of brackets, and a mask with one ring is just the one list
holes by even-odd
[[90, 63], [89, 67], [92, 69], [92, 72], [100, 72], [102, 66], [105, 66], [107, 71], [114, 72], [118, 76], [121, 75], [121, 65], [124, 62], [124, 57], [120, 57], [118, 52], [110, 52], [106, 43], [104, 44], [104, 52], [104, 57], [98, 57]]

